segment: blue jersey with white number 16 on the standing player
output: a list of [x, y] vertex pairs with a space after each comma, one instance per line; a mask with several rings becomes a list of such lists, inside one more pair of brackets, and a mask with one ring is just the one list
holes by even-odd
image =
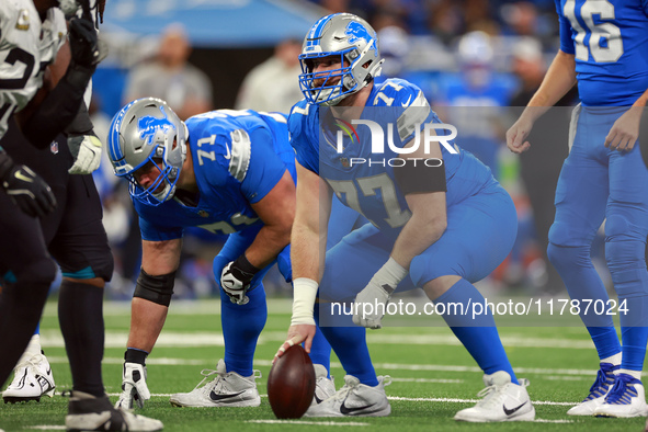
[[555, 1], [583, 105], [632, 105], [648, 89], [648, 0]]

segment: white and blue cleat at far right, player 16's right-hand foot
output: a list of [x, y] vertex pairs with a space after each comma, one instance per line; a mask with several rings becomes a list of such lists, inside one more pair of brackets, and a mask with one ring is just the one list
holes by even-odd
[[616, 375], [614, 386], [596, 409], [595, 417], [644, 417], [647, 414], [644, 385], [628, 374]]

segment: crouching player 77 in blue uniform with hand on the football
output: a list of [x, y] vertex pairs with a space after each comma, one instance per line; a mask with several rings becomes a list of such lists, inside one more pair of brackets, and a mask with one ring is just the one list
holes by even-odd
[[[295, 298], [288, 337], [277, 356], [303, 341], [308, 350], [319, 321], [348, 375], [339, 393], [306, 416], [388, 416], [388, 377], [376, 376], [365, 328], [380, 328], [384, 306], [395, 291], [421, 287], [437, 306], [484, 303], [473, 282], [486, 277], [511, 250], [515, 208], [490, 170], [451, 137], [417, 149], [430, 125], [441, 125], [410, 82], [374, 83], [383, 59], [367, 22], [349, 13], [320, 19], [306, 35], [299, 59], [305, 99], [288, 120], [298, 162], [292, 234]], [[376, 143], [370, 138], [376, 130], [364, 134], [366, 128], [359, 127], [349, 129], [350, 137], [336, 135], [332, 125], [344, 122], [383, 126], [393, 135], [389, 148], [372, 154]], [[435, 163], [428, 167], [430, 160]], [[325, 269], [322, 245], [333, 193], [370, 224], [331, 248]], [[336, 310], [338, 302], [352, 303], [353, 317]], [[372, 312], [364, 305], [376, 307]], [[527, 382], [513, 373], [492, 315], [443, 317], [484, 370], [487, 386], [486, 397], [455, 419], [533, 420]]]

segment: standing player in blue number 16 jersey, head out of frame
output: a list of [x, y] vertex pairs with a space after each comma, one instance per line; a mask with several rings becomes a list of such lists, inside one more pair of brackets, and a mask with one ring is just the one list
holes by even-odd
[[[571, 118], [547, 253], [569, 296], [583, 305], [600, 371], [590, 394], [568, 413], [646, 416], [640, 376], [648, 340], [648, 170], [635, 143], [648, 99], [648, 2], [556, 0], [556, 9], [560, 49], [507, 141], [514, 152], [527, 150], [535, 120], [578, 81], [581, 104]], [[604, 219], [622, 344], [611, 315], [584, 308], [611, 304], [590, 258]]]

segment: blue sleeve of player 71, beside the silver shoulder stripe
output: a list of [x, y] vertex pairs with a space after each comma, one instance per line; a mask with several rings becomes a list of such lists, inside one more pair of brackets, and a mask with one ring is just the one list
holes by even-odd
[[261, 201], [286, 171], [286, 166], [274, 151], [273, 137], [263, 127], [253, 129], [250, 134], [251, 155], [250, 164], [241, 182], [241, 192], [249, 203]]

